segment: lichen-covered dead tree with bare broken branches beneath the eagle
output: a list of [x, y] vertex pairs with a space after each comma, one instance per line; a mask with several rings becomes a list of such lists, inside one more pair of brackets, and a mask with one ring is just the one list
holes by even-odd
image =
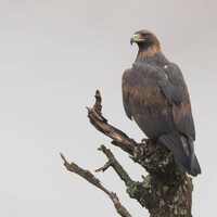
[[[148, 208], [150, 217], [191, 217], [192, 179], [182, 173], [175, 163], [173, 154], [152, 140], [136, 142], [126, 133], [110, 125], [102, 115], [101, 95], [95, 92], [95, 103], [88, 108], [90, 123], [101, 132], [112, 139], [112, 144], [120, 148], [129, 157], [140, 164], [148, 176], [142, 181], [130, 178], [124, 167], [117, 162], [111, 150], [104, 145], [99, 148], [106, 157], [104, 166], [95, 171], [105, 171], [108, 167], [117, 173], [126, 186], [126, 192], [136, 199], [142, 207]], [[61, 154], [66, 169], [81, 176], [84, 179], [104, 191], [114, 203], [116, 212], [123, 217], [130, 217], [129, 212], [120, 204], [117, 195], [105, 189], [99, 179], [90, 171], [80, 168], [75, 163], [68, 163]]]

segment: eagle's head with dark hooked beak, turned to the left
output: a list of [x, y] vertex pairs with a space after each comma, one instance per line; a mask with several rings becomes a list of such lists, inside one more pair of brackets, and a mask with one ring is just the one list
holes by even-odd
[[149, 49], [150, 47], [157, 47], [159, 49], [159, 41], [156, 36], [149, 30], [139, 30], [133, 34], [130, 43], [136, 42], [139, 49]]

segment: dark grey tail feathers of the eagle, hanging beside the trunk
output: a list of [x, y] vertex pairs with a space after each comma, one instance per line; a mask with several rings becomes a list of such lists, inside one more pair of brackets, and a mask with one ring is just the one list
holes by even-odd
[[188, 154], [183, 149], [183, 144], [178, 132], [161, 136], [158, 140], [174, 153], [177, 164], [186, 173], [192, 176], [197, 176], [199, 174], [201, 174], [201, 167], [194, 154], [193, 140], [188, 141]]

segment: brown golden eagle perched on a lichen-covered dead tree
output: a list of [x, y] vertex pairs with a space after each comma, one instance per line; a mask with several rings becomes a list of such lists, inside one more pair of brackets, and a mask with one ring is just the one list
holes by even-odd
[[131, 68], [123, 75], [123, 104], [145, 136], [165, 145], [179, 168], [201, 174], [194, 153], [195, 128], [190, 97], [179, 66], [169, 62], [157, 37], [149, 30], [133, 34], [139, 47]]

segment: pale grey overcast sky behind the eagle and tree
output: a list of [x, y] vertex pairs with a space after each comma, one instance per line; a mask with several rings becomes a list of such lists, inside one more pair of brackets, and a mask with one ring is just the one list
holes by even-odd
[[[93, 171], [111, 148], [135, 180], [144, 171], [88, 122], [95, 89], [111, 124], [144, 136], [122, 104], [136, 30], [150, 29], [186, 77], [203, 174], [193, 214], [216, 216], [216, 0], [0, 0], [0, 216], [118, 216], [103, 192], [65, 170], [59, 153]], [[97, 174], [133, 217], [149, 216], [110, 169]]]

